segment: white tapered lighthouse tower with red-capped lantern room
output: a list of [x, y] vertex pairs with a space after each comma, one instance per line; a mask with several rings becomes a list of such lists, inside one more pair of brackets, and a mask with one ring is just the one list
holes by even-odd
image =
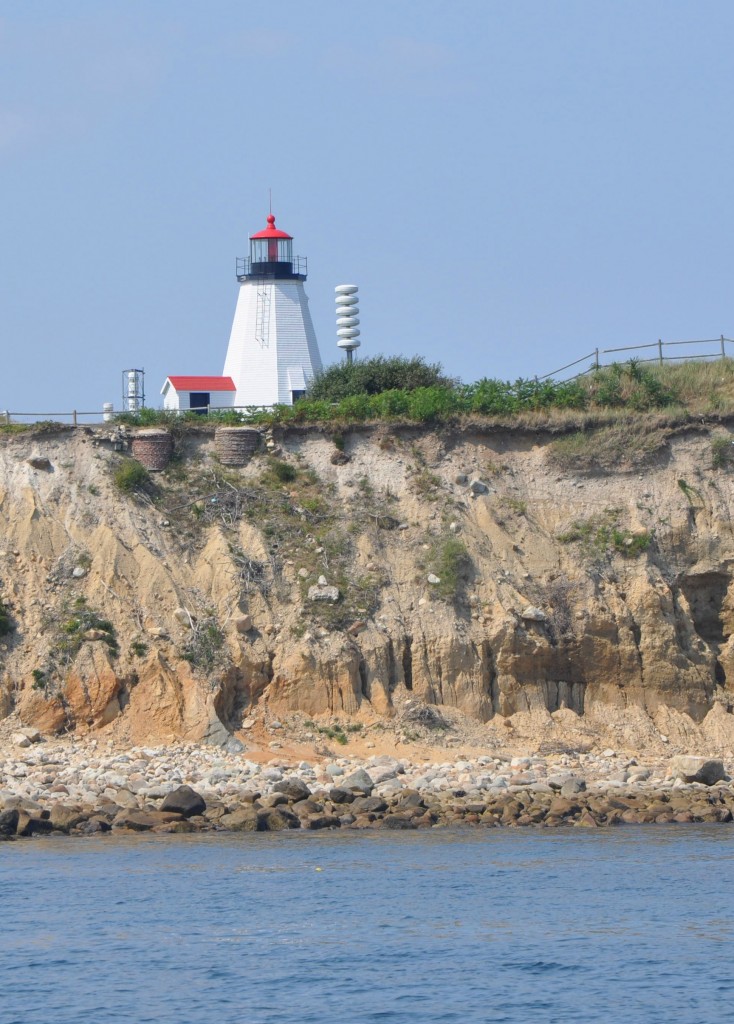
[[305, 257], [293, 255], [292, 237], [270, 214], [250, 236], [250, 255], [236, 261], [240, 294], [223, 370], [234, 381], [235, 406], [291, 406], [321, 369], [306, 272]]

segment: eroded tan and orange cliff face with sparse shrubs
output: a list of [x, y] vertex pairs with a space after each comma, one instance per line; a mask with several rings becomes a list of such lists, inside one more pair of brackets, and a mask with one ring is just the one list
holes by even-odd
[[202, 429], [126, 495], [109, 431], [3, 437], [0, 714], [225, 742], [438, 706], [477, 742], [731, 748], [727, 428], [607, 440], [303, 431], [232, 470]]

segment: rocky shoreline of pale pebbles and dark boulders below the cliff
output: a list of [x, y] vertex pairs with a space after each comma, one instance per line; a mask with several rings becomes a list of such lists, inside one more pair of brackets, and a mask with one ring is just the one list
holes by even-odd
[[0, 839], [734, 818], [724, 762], [683, 755], [645, 762], [606, 750], [442, 763], [388, 755], [258, 763], [247, 752], [192, 743], [123, 752], [27, 732], [27, 745], [0, 753]]

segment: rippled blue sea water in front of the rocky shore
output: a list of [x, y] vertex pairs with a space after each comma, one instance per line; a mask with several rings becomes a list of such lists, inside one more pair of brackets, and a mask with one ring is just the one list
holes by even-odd
[[0, 844], [2, 1024], [734, 1020], [734, 827]]

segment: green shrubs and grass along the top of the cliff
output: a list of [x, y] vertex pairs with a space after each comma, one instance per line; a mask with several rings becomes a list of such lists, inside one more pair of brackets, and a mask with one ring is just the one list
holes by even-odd
[[[327, 426], [348, 429], [369, 423], [475, 423], [512, 429], [567, 431], [638, 420], [641, 415], [667, 426], [692, 418], [721, 420], [734, 415], [734, 359], [641, 364], [631, 360], [590, 370], [570, 381], [482, 378], [463, 384], [439, 366], [419, 358], [378, 356], [331, 367], [295, 406], [248, 412], [219, 411], [204, 420], [195, 413], [145, 409], [121, 414], [130, 426], [207, 424]], [[0, 433], [63, 429], [60, 424], [0, 424]]]

